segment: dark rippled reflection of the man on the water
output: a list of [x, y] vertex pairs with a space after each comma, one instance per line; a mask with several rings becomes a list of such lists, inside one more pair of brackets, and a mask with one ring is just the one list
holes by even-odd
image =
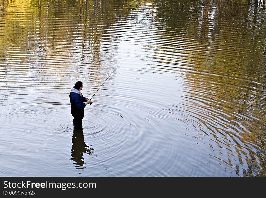
[[[91, 145], [90, 145], [91, 146]], [[71, 149], [71, 160], [73, 160], [73, 164], [75, 164], [77, 169], [86, 168], [85, 162], [83, 161], [83, 153], [92, 154], [94, 151], [93, 148], [89, 148], [89, 146], [84, 142], [84, 134], [82, 128], [74, 129], [72, 136], [72, 149]]]

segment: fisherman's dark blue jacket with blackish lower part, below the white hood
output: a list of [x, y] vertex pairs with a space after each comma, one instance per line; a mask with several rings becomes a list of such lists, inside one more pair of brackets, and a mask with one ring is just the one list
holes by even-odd
[[83, 97], [82, 94], [79, 95], [78, 93], [74, 92], [70, 92], [69, 98], [70, 98], [72, 116], [83, 119], [84, 107], [86, 106], [84, 102], [86, 102], [87, 98]]

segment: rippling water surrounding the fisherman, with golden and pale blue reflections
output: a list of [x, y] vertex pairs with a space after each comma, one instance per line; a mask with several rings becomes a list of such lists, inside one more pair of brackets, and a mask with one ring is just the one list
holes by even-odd
[[0, 175], [265, 177], [265, 33], [265, 0], [0, 1]]

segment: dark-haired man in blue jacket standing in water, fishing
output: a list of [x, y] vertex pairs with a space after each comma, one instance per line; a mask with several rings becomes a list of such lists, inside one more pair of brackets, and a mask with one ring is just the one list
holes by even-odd
[[82, 128], [82, 119], [84, 117], [84, 107], [88, 104], [92, 104], [92, 100], [83, 97], [82, 90], [83, 83], [77, 81], [75, 86], [71, 89], [69, 98], [71, 104], [71, 114], [74, 117], [73, 125], [74, 129]]

